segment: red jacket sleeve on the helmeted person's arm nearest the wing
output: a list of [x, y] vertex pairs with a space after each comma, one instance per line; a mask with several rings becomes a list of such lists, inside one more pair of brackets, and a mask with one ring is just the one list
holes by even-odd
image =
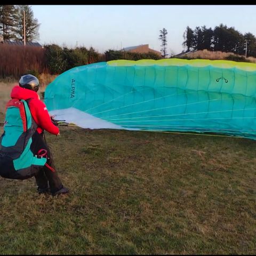
[[52, 123], [51, 116], [45, 106], [45, 103], [41, 100], [36, 100], [36, 102], [34, 101], [33, 103], [36, 110], [35, 114], [38, 126], [47, 132], [57, 135], [59, 133], [59, 127]]

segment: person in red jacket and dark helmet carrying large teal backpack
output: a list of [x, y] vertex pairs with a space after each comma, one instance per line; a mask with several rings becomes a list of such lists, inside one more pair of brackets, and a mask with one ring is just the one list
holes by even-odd
[[[17, 149], [19, 141], [21, 141], [22, 138], [27, 137], [28, 139], [24, 140], [24, 142], [21, 142], [21, 144], [23, 143], [23, 145], [27, 145], [29, 148], [23, 147], [22, 150], [19, 150], [20, 153], [18, 155], [16, 154], [17, 156], [15, 157], [13, 157], [13, 155], [15, 155], [15, 150], [13, 149], [14, 146], [9, 143], [8, 145], [11, 145], [12, 147], [6, 149], [7, 147], [5, 148], [3, 146], [4, 143], [2, 139], [2, 145], [0, 145], [0, 175], [4, 178], [10, 179], [28, 179], [34, 176], [37, 183], [38, 194], [51, 193], [53, 196], [66, 194], [69, 192], [69, 190], [62, 185], [58, 173], [55, 170], [53, 156], [49, 146], [47, 145], [44, 135], [44, 130], [57, 136], [60, 135], [59, 127], [53, 122], [53, 118], [50, 116], [45, 103], [40, 100], [37, 93], [38, 89], [39, 81], [37, 77], [27, 74], [21, 76], [19, 85], [15, 85], [11, 91], [12, 99], [17, 99], [19, 101], [23, 100], [22, 102], [27, 102], [27, 106], [31, 114], [31, 119], [33, 121], [31, 123], [35, 123], [35, 128], [33, 129], [33, 126], [31, 126], [30, 129], [26, 131], [26, 133], [23, 133], [25, 134], [23, 137], [20, 135], [16, 142], [15, 150], [17, 151], [19, 148], [21, 148], [18, 147]], [[26, 118], [29, 119], [28, 116]], [[28, 123], [28, 121], [26, 122]], [[8, 120], [5, 120], [5, 123], [7, 128]], [[15, 125], [12, 125], [12, 129], [15, 129]], [[1, 138], [3, 138], [5, 135], [5, 141], [11, 141], [12, 135], [10, 134], [14, 134], [13, 130], [12, 132], [4, 131]], [[29, 140], [30, 137], [31, 140]], [[28, 154], [29, 152], [31, 152], [30, 155]], [[18, 162], [20, 159], [18, 156], [20, 158], [23, 157], [22, 161]], [[28, 157], [30, 158], [29, 161]], [[25, 160], [30, 164], [23, 164]], [[23, 165], [21, 165], [21, 163]], [[17, 171], [17, 169], [20, 170]]]

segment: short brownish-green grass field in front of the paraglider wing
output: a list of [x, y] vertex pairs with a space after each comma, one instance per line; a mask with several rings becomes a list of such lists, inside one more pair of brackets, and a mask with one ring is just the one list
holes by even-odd
[[256, 253], [256, 141], [60, 133], [46, 139], [70, 193], [0, 178], [0, 254]]

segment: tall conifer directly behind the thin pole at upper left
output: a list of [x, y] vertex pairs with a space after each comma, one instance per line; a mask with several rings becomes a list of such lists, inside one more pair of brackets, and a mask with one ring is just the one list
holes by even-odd
[[33, 39], [39, 38], [38, 29], [40, 24], [34, 18], [34, 13], [29, 5], [17, 5], [17, 24], [16, 37], [18, 40], [24, 41], [24, 12], [25, 12], [25, 36], [26, 42], [31, 42]]

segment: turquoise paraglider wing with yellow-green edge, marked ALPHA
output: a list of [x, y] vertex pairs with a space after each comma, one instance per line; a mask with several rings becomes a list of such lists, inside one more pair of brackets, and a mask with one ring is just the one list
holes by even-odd
[[76, 67], [45, 90], [50, 113], [84, 128], [255, 138], [256, 64], [115, 60]]

